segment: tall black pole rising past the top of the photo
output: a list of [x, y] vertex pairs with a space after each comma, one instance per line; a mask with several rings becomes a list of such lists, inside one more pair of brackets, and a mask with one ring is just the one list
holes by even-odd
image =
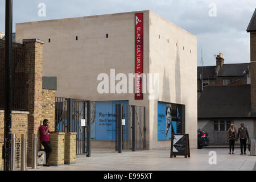
[[5, 1], [5, 171], [11, 170], [11, 63], [13, 49], [13, 0]]

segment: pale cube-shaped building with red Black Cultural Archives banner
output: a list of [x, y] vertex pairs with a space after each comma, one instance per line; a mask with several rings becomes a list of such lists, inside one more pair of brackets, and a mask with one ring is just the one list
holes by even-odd
[[[43, 76], [57, 76], [56, 96], [96, 101], [92, 145], [113, 146], [113, 125], [99, 129], [97, 117], [114, 112], [118, 101], [146, 107], [148, 150], [169, 149], [172, 132], [189, 134], [191, 148], [197, 147], [195, 35], [146, 10], [16, 24], [16, 41], [34, 37], [45, 42]], [[142, 90], [147, 77], [128, 79], [129, 73], [151, 73], [156, 97]], [[118, 76], [133, 88], [117, 93]], [[102, 81], [107, 84], [99, 86]]]

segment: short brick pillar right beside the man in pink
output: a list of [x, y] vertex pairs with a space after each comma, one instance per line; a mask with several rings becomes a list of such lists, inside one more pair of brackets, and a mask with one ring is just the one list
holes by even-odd
[[50, 166], [64, 165], [64, 138], [65, 133], [52, 133], [49, 135], [52, 146], [48, 161]]

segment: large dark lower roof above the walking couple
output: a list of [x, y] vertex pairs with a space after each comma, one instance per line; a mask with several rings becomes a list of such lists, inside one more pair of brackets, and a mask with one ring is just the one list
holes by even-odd
[[205, 86], [197, 103], [198, 118], [256, 118], [250, 85]]

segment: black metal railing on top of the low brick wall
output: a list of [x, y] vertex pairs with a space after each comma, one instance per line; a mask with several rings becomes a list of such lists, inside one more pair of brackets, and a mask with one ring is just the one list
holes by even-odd
[[[24, 44], [13, 42], [12, 51], [12, 109], [27, 110], [26, 62]], [[5, 40], [0, 39], [0, 109], [5, 107]]]

